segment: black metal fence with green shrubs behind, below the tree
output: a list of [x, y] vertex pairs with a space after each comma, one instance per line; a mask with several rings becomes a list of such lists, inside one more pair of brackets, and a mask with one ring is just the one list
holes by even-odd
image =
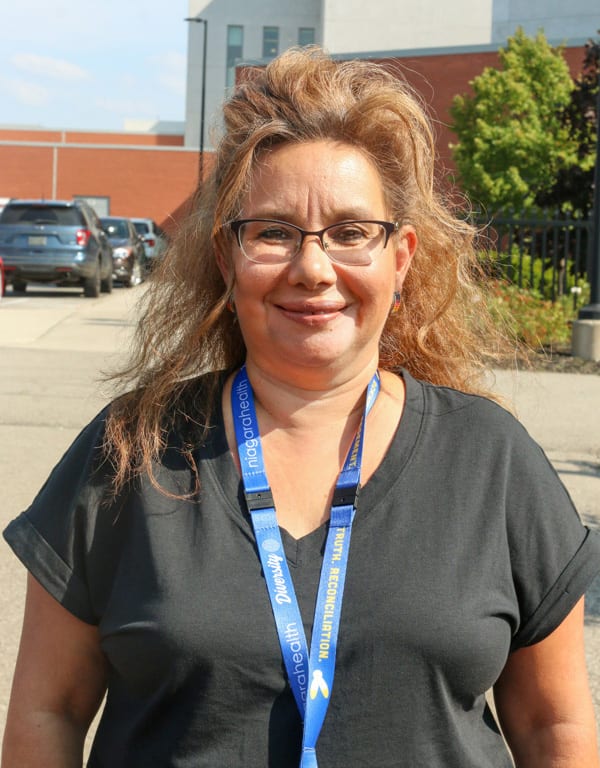
[[588, 281], [592, 246], [591, 219], [556, 212], [541, 215], [501, 212], [476, 217], [478, 248], [488, 273], [551, 301], [572, 295], [576, 307]]

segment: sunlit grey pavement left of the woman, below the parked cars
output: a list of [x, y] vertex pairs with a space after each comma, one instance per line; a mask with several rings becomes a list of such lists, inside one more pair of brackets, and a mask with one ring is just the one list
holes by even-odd
[[[74, 289], [0, 301], [0, 529], [24, 509], [81, 427], [110, 399], [102, 372], [129, 347], [143, 286], [84, 299]], [[0, 733], [23, 611], [25, 573], [0, 541]]]

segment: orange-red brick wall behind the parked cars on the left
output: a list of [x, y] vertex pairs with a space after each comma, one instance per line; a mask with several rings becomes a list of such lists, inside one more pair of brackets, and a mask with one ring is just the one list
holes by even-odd
[[[197, 151], [163, 147], [160, 141], [144, 145], [143, 135], [128, 134], [128, 145], [110, 144], [113, 134], [72, 133], [71, 138], [64, 140], [60, 131], [0, 130], [0, 198], [108, 198], [112, 215], [148, 217], [173, 227], [197, 183]], [[81, 138], [85, 143], [76, 141]]]

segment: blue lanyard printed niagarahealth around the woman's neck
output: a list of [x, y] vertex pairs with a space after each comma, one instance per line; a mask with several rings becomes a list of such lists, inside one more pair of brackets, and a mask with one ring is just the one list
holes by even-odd
[[360, 487], [365, 420], [379, 389], [379, 375], [376, 373], [369, 382], [365, 413], [336, 483], [319, 580], [310, 655], [267, 480], [254, 398], [245, 366], [237, 373], [231, 391], [246, 503], [288, 680], [300, 716], [304, 719], [300, 768], [318, 768], [315, 748], [325, 720], [335, 673], [350, 534]]

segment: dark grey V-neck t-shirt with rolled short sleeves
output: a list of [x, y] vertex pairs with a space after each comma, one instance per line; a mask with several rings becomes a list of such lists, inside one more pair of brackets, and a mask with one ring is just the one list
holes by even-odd
[[[401, 424], [359, 497], [319, 768], [508, 768], [484, 693], [581, 597], [598, 538], [512, 416], [402, 375]], [[104, 416], [4, 533], [99, 626], [108, 697], [89, 766], [297, 768], [300, 718], [220, 410], [189, 500], [173, 497], [194, 488], [173, 436], [156, 467], [171, 496], [142, 478], [111, 501]], [[309, 643], [326, 533], [283, 532]]]

